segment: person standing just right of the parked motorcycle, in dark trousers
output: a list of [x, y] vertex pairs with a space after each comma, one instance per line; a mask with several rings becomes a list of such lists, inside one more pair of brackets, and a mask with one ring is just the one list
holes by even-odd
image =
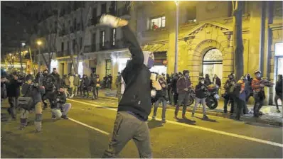
[[229, 75], [229, 79], [224, 84], [225, 89], [225, 97], [224, 97], [224, 113], [227, 113], [227, 105], [228, 102], [231, 102], [231, 109], [230, 114], [233, 114], [234, 112], [234, 99], [233, 99], [233, 92], [234, 92], [234, 85], [236, 83], [236, 80], [234, 79], [234, 74], [231, 73]]

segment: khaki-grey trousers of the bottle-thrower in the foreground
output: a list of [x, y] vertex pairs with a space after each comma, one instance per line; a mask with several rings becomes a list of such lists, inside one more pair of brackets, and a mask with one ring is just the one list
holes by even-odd
[[139, 150], [140, 158], [152, 158], [149, 126], [127, 111], [118, 111], [114, 122], [112, 139], [102, 158], [115, 158], [133, 139]]

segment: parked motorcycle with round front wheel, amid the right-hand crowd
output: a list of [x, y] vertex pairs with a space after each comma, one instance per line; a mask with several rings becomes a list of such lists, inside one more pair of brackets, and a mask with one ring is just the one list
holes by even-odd
[[205, 92], [205, 103], [209, 109], [215, 109], [218, 106], [218, 99], [220, 99], [218, 95], [218, 89], [218, 86], [208, 87], [208, 91]]

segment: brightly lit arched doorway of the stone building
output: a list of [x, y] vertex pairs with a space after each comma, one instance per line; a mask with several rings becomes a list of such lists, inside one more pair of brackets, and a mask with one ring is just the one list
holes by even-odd
[[203, 56], [203, 77], [208, 74], [211, 82], [216, 74], [222, 80], [223, 78], [223, 57], [218, 49], [210, 49]]

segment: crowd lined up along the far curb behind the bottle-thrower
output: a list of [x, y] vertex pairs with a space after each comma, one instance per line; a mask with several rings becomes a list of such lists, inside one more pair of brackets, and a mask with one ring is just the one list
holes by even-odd
[[[207, 97], [207, 92], [209, 87], [216, 87], [219, 90], [221, 89], [221, 79], [218, 75], [214, 75], [213, 79], [210, 79], [208, 74], [205, 77], [199, 77], [198, 84], [196, 87], [193, 87], [191, 84], [191, 79], [189, 77], [188, 70], [184, 70], [183, 73], [178, 72], [176, 74], [161, 74], [158, 76], [158, 81], [161, 84], [162, 89], [156, 91], [156, 96], [151, 100], [152, 105], [154, 106], [154, 114], [152, 119], [156, 118], [156, 112], [159, 104], [162, 104], [162, 121], [165, 123], [166, 119], [166, 106], [171, 104], [175, 106], [175, 118], [178, 118], [178, 109], [180, 106], [183, 106], [182, 118], [186, 119], [186, 107], [188, 104], [188, 98], [190, 93], [196, 94], [195, 105], [193, 106], [193, 111], [191, 116], [194, 116], [198, 104], [203, 105], [203, 119], [208, 119], [206, 116], [206, 104], [205, 99]], [[122, 98], [124, 92], [125, 83], [122, 79], [120, 72], [117, 76], [117, 97], [118, 102]], [[261, 72], [256, 71], [255, 77], [250, 77], [250, 74], [243, 75], [240, 79], [236, 80], [235, 75], [231, 73], [228, 76], [228, 80], [225, 82], [223, 89], [225, 93], [221, 94], [224, 99], [224, 113], [228, 113], [228, 104], [230, 104], [230, 114], [236, 113], [236, 119], [240, 120], [241, 114], [248, 114], [249, 109], [247, 108], [247, 102], [250, 97], [254, 97], [255, 104], [253, 108], [253, 113], [255, 117], [262, 115], [260, 111], [263, 101], [265, 99], [265, 89], [264, 87], [271, 87], [273, 84], [265, 79], [261, 78]], [[193, 90], [190, 91], [190, 90]], [[278, 107], [278, 99], [282, 101], [282, 75], [278, 76], [278, 81], [276, 83], [276, 95], [274, 102], [277, 106], [277, 112], [280, 113]], [[235, 110], [235, 108], [237, 110]]]

